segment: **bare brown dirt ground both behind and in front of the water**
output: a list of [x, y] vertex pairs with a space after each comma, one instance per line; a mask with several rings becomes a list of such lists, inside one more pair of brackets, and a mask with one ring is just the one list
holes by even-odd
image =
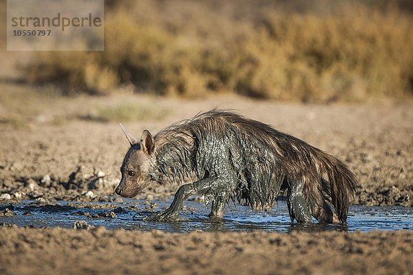
[[[161, 118], [125, 121], [137, 136], [213, 107], [235, 109], [343, 159], [359, 179], [352, 203], [413, 206], [411, 102], [315, 105], [233, 96], [39, 99], [23, 94], [25, 103], [13, 109], [25, 87], [0, 83], [0, 89], [12, 95], [0, 97], [1, 204], [120, 201], [113, 190], [128, 143], [117, 121], [102, 122], [94, 109], [128, 102], [167, 110]], [[165, 199], [174, 191], [176, 186], [149, 186], [139, 197]], [[412, 232], [169, 234], [5, 227], [0, 228], [0, 274], [412, 274], [412, 242]]]

